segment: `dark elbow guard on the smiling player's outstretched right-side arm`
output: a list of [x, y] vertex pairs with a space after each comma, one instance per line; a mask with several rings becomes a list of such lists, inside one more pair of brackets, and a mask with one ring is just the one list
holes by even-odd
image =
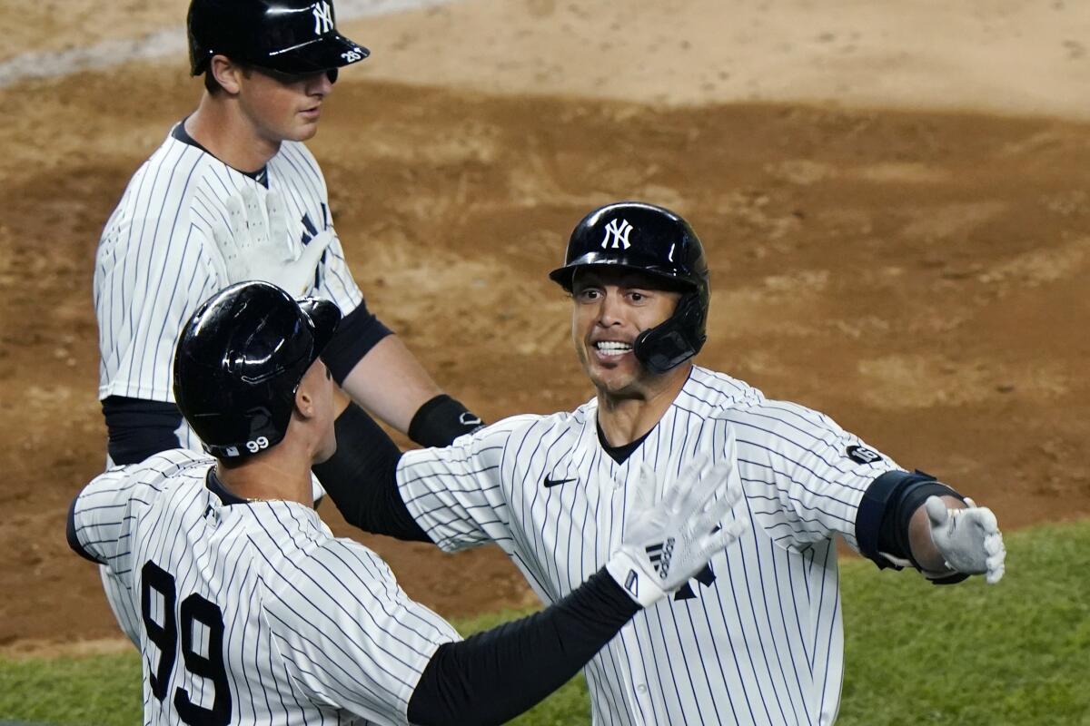
[[908, 541], [908, 522], [929, 496], [960, 494], [937, 481], [930, 473], [916, 470], [887, 471], [874, 480], [863, 493], [856, 517], [856, 541], [859, 551], [879, 568], [913, 567], [935, 585], [954, 585], [968, 578], [953, 569], [931, 571], [920, 567], [912, 557]]

